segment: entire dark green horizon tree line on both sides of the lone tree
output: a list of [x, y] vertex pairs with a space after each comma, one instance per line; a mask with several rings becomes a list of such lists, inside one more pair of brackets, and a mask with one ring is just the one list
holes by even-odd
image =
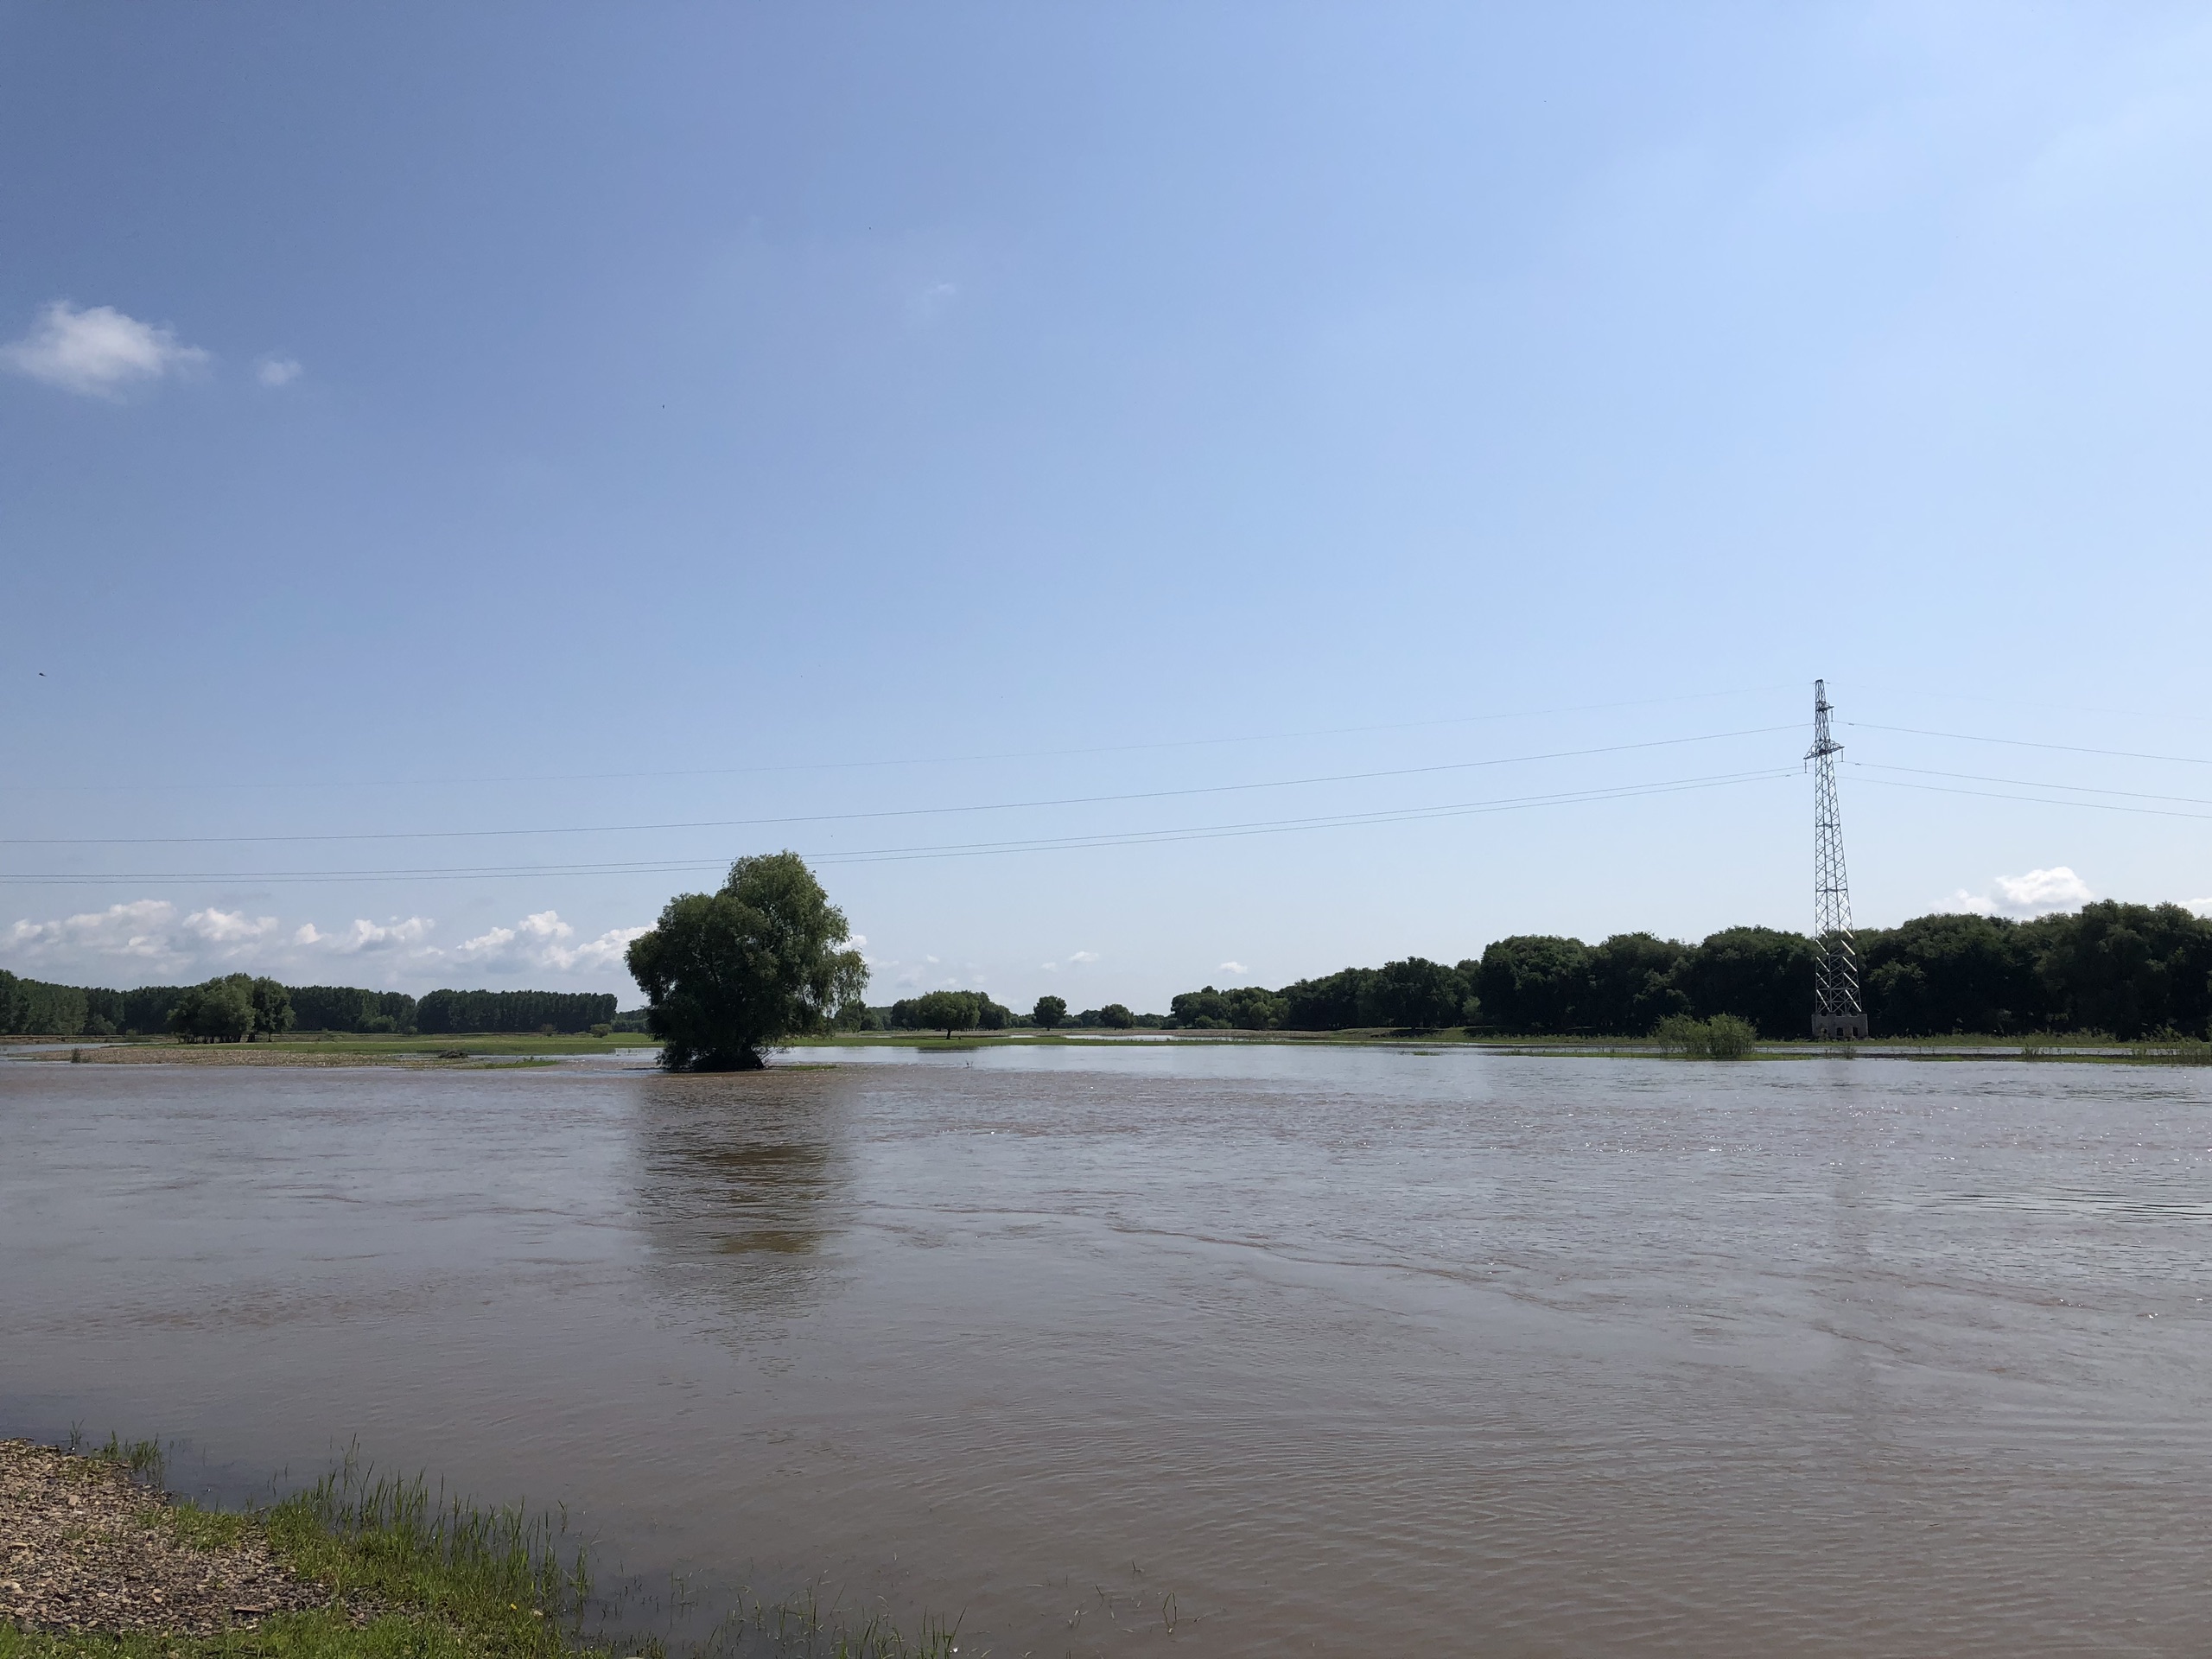
[[[2179, 905], [2097, 902], [2015, 922], [1918, 916], [1856, 933], [1860, 987], [1876, 1035], [2022, 1035], [2104, 1031], [2121, 1040], [2212, 1033], [2212, 922]], [[1349, 967], [1276, 991], [1203, 987], [1166, 1015], [1119, 1002], [1068, 1011], [1037, 998], [1013, 1013], [982, 991], [931, 991], [889, 1006], [847, 1000], [845, 1031], [1186, 1029], [1438, 1031], [1500, 1035], [1648, 1035], [1663, 1020], [1734, 1015], [1761, 1037], [1801, 1037], [1812, 1015], [1814, 942], [1772, 927], [1730, 927], [1697, 945], [1615, 933], [1599, 945], [1522, 933], [1455, 964], [1409, 956]], [[927, 1006], [925, 1006], [927, 1004]], [[400, 991], [283, 987], [243, 973], [197, 987], [135, 991], [49, 984], [0, 969], [0, 1035], [153, 1035], [204, 1040], [336, 1033], [639, 1029], [615, 998], [573, 991]]]

